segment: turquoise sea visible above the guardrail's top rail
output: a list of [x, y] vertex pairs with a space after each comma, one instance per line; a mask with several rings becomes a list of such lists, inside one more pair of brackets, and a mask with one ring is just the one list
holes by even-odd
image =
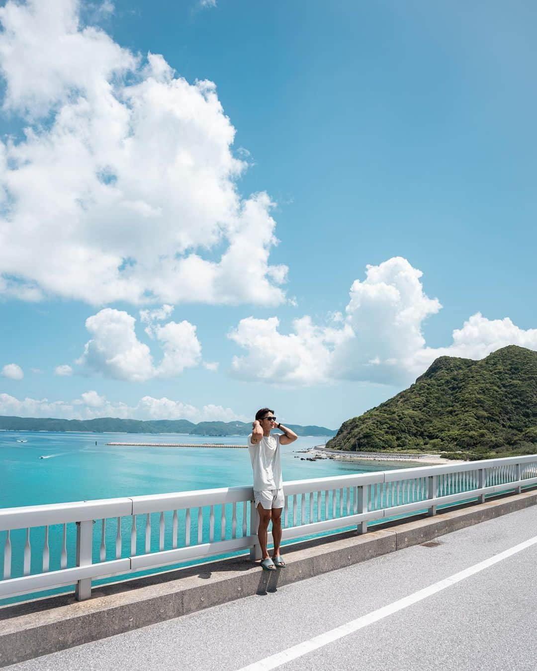
[[[27, 440], [19, 443], [17, 440]], [[403, 468], [387, 462], [301, 461], [328, 437], [299, 437], [282, 448], [284, 480]], [[109, 442], [246, 444], [246, 436], [0, 431], [0, 507], [251, 485], [248, 450], [107, 446]], [[43, 456], [43, 459], [40, 457]]]

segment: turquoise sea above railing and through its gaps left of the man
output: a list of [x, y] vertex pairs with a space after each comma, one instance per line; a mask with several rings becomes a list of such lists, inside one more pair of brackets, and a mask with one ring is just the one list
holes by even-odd
[[[17, 441], [26, 442], [17, 442]], [[302, 460], [301, 451], [326, 443], [328, 437], [299, 437], [290, 446], [282, 448], [282, 470], [284, 480], [303, 480], [346, 475], [375, 470], [402, 468], [413, 464], [387, 462], [342, 462]], [[251, 486], [252, 467], [246, 448], [162, 448], [109, 446], [109, 442], [150, 443], [213, 443], [246, 444], [245, 436], [207, 437], [182, 434], [132, 434], [132, 433], [53, 433], [34, 431], [0, 431], [0, 508], [69, 501], [89, 501], [115, 497], [165, 494], [197, 489], [228, 486]], [[228, 504], [228, 507], [230, 505]], [[246, 511], [238, 506], [238, 529]], [[171, 547], [171, 511], [165, 513], [165, 548]], [[219, 513], [215, 511], [217, 523], [215, 537], [219, 537]], [[197, 538], [197, 515], [191, 520], [191, 538]], [[203, 509], [203, 542], [209, 539], [208, 510]], [[137, 517], [137, 554], [144, 554], [144, 518]], [[130, 556], [131, 517], [123, 517], [121, 523], [121, 556]], [[231, 511], [227, 513], [226, 537], [231, 533]], [[93, 561], [99, 561], [101, 525], [97, 520], [93, 529]], [[117, 521], [105, 521], [107, 559], [115, 558]], [[179, 547], [186, 542], [185, 511], [179, 516]], [[151, 515], [151, 549], [158, 550], [158, 513]], [[5, 531], [0, 531], [0, 577], [2, 574]], [[12, 557], [11, 577], [23, 574], [23, 547], [25, 529], [11, 532]], [[42, 548], [44, 527], [31, 529], [32, 574], [42, 571]], [[50, 526], [50, 570], [60, 568], [62, 525]], [[75, 566], [76, 527], [66, 527], [67, 566]], [[242, 553], [239, 553], [242, 554]], [[230, 556], [222, 555], [222, 556]], [[187, 562], [197, 564], [206, 560]], [[177, 564], [176, 566], [184, 566]], [[167, 567], [167, 569], [172, 567]], [[167, 570], [166, 569], [166, 570]], [[148, 574], [146, 570], [129, 574], [129, 577]], [[94, 580], [93, 584], [120, 580], [126, 576], [114, 576], [105, 580]], [[40, 594], [0, 600], [0, 605], [44, 596], [71, 588], [54, 588]]]

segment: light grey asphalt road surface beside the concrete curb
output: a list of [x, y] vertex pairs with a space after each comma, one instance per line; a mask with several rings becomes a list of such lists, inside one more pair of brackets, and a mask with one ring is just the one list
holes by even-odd
[[7, 668], [238, 671], [305, 643], [305, 654], [270, 668], [535, 671], [537, 543], [358, 631], [308, 650], [312, 637], [415, 595], [534, 536], [537, 507], [444, 535], [434, 548], [399, 550], [262, 597], [247, 597]]

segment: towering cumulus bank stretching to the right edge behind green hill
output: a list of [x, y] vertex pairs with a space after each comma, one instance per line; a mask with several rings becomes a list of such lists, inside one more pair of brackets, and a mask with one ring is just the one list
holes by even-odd
[[284, 334], [276, 317], [242, 319], [229, 338], [246, 354], [233, 358], [231, 374], [295, 386], [340, 379], [405, 385], [438, 356], [481, 359], [511, 344], [537, 350], [537, 329], [480, 313], [453, 331], [449, 346], [426, 346], [424, 321], [442, 305], [426, 295], [421, 278], [406, 259], [394, 257], [367, 266], [365, 279], [350, 287], [345, 315], [334, 311], [325, 325], [305, 316]]

